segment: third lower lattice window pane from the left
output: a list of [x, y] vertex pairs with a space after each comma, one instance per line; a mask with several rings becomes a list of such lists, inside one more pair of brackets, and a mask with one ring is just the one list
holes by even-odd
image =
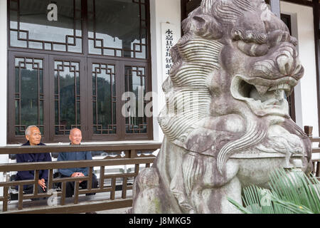
[[113, 64], [92, 64], [93, 133], [116, 134], [116, 83]]

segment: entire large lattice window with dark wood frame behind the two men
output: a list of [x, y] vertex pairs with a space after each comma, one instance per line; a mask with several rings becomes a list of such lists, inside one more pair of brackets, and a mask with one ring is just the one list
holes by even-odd
[[[149, 0], [4, 1], [8, 143], [25, 142], [28, 125], [40, 128], [45, 143], [69, 142], [72, 128], [85, 141], [152, 139], [152, 120], [144, 115]], [[56, 20], [48, 17], [49, 5]], [[137, 115], [122, 115], [126, 91], [137, 98]]]

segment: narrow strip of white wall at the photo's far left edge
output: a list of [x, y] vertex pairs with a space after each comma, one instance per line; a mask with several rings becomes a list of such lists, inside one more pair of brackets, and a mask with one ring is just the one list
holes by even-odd
[[[6, 145], [6, 71], [7, 71], [7, 50], [6, 50], [6, 0], [0, 0], [0, 146]], [[8, 155], [0, 155], [0, 163], [9, 162]], [[4, 175], [0, 172], [0, 181]], [[0, 188], [0, 196], [3, 195]]]

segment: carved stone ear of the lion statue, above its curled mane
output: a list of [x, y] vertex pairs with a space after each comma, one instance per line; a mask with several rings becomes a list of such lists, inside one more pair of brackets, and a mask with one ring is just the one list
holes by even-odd
[[193, 16], [193, 29], [198, 35], [218, 39], [223, 36], [222, 26], [212, 16], [201, 14]]

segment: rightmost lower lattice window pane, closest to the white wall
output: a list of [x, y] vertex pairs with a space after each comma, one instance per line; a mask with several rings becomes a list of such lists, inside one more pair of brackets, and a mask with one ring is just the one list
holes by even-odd
[[[146, 68], [140, 66], [125, 66], [125, 91], [134, 93], [135, 110], [126, 118], [126, 133], [146, 133], [147, 123], [144, 109], [146, 107]], [[127, 99], [127, 102], [129, 102]], [[132, 107], [131, 107], [132, 108]]]

